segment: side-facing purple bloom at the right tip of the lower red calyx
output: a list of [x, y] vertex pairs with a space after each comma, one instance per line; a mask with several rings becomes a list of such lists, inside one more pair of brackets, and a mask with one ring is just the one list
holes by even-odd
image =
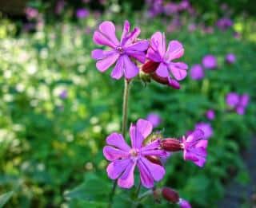
[[[190, 160], [199, 167], [203, 167], [206, 163], [206, 147], [208, 140], [204, 139], [204, 133], [200, 129], [194, 130], [187, 137], [183, 137], [183, 158], [185, 160]], [[185, 206], [184, 206], [185, 207]]]

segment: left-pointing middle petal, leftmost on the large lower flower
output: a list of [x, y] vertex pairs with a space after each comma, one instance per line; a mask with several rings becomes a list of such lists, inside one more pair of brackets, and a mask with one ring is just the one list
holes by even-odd
[[105, 146], [103, 148], [103, 155], [107, 160], [114, 161], [116, 159], [124, 159], [129, 156], [129, 151], [122, 151], [115, 147]]

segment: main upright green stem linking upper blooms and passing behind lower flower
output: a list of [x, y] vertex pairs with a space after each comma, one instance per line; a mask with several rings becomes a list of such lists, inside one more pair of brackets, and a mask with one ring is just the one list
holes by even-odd
[[[128, 114], [128, 99], [129, 99], [129, 86], [130, 80], [125, 79], [125, 87], [123, 91], [123, 100], [122, 100], [122, 135], [126, 138], [126, 126], [127, 126], [127, 114]], [[110, 192], [110, 201], [108, 207], [111, 208], [113, 204], [113, 198], [115, 194], [115, 190], [117, 187], [118, 180], [114, 180], [114, 184], [112, 186], [112, 190]]]

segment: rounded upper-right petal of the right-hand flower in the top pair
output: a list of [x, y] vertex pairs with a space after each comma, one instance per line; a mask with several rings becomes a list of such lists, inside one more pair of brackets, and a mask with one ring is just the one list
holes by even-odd
[[166, 60], [172, 61], [174, 59], [182, 57], [183, 54], [183, 45], [179, 41], [170, 41], [166, 51]]

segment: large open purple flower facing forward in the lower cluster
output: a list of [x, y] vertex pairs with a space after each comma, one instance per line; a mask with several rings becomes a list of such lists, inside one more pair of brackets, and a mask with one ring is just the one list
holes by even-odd
[[147, 120], [138, 120], [130, 126], [131, 147], [121, 134], [112, 133], [106, 138], [107, 146], [103, 154], [111, 163], [106, 168], [110, 179], [118, 179], [118, 186], [130, 188], [134, 185], [134, 168], [140, 172], [142, 185], [146, 188], [154, 186], [154, 181], [160, 181], [166, 171], [161, 165], [150, 162], [146, 156], [162, 156], [166, 152], [160, 150], [160, 140], [156, 139], [143, 146], [143, 141], [150, 135], [153, 127]]

